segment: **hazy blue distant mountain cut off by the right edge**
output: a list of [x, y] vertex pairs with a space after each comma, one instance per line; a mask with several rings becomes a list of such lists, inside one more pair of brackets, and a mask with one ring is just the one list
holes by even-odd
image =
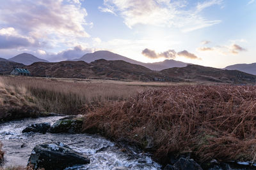
[[252, 64], [235, 64], [227, 66], [225, 69], [236, 69], [245, 73], [256, 75], [256, 62]]

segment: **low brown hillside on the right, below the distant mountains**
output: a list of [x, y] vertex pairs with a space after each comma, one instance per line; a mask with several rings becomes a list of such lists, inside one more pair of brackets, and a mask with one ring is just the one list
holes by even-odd
[[189, 64], [186, 67], [164, 69], [161, 73], [190, 81], [213, 81], [218, 83], [255, 83], [256, 76], [237, 70], [223, 70]]

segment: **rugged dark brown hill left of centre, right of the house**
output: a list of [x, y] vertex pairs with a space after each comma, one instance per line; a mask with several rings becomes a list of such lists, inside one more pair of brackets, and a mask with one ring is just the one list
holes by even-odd
[[35, 62], [26, 66], [33, 76], [57, 78], [111, 78], [140, 81], [183, 81], [172, 78], [147, 67], [131, 64], [123, 60], [95, 60], [90, 64], [84, 61]]

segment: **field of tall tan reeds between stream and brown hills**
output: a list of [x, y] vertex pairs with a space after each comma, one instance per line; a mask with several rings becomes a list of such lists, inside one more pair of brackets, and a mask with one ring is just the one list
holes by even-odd
[[[102, 104], [122, 101], [147, 89], [139, 85], [124, 85], [115, 81], [84, 81], [79, 79], [2, 77], [7, 85], [22, 87], [35, 98], [35, 104], [48, 112], [76, 115]], [[83, 110], [81, 110], [83, 109]]]

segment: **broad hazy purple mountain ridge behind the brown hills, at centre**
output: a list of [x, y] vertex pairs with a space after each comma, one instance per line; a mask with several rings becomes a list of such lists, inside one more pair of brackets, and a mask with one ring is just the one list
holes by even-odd
[[144, 67], [148, 67], [152, 70], [160, 71], [162, 69], [167, 69], [170, 67], [185, 67], [188, 65], [188, 63], [180, 62], [177, 60], [164, 60], [163, 62], [154, 62], [154, 63], [145, 63], [145, 62], [139, 62], [137, 60], [129, 59], [128, 57], [124, 57], [122, 55], [118, 55], [113, 52], [109, 51], [97, 51], [94, 53], [86, 53], [83, 57], [80, 59], [74, 59], [74, 61], [83, 60], [84, 62], [93, 62], [95, 60], [99, 59], [105, 59], [105, 60], [124, 60], [126, 62], [130, 62], [132, 64], [138, 64]]

